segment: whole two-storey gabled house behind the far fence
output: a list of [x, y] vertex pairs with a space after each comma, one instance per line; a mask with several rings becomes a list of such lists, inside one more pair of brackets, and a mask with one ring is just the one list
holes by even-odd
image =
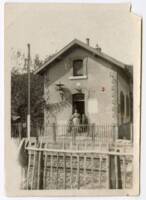
[[75, 110], [80, 123], [122, 125], [132, 121], [132, 73], [128, 66], [77, 39], [36, 74], [44, 77], [44, 134], [68, 125]]

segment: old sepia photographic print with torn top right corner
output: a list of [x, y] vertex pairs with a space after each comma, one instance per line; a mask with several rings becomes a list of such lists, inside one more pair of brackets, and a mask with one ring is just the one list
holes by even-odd
[[138, 195], [141, 18], [123, 4], [5, 4], [6, 189]]

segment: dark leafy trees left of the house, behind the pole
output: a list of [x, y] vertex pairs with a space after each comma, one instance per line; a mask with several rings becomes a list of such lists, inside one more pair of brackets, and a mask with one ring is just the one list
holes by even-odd
[[[40, 67], [42, 62], [37, 55], [33, 61], [33, 68]], [[32, 70], [31, 70], [32, 71]], [[43, 77], [30, 74], [30, 104], [32, 124], [43, 124]], [[21, 117], [23, 122], [27, 118], [28, 75], [16, 69], [11, 72], [11, 114]]]

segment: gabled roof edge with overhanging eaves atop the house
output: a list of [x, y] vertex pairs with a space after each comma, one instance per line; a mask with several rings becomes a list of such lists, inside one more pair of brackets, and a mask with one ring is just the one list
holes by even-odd
[[129, 65], [126, 65], [118, 60], [116, 60], [115, 58], [112, 58], [110, 56], [108, 56], [107, 54], [103, 53], [102, 51], [98, 51], [97, 49], [87, 45], [84, 42], [81, 42], [78, 39], [74, 39], [72, 40], [68, 45], [66, 45], [63, 49], [61, 49], [60, 51], [58, 51], [58, 53], [56, 53], [53, 57], [51, 57], [51, 59], [49, 59], [47, 62], [45, 62], [40, 68], [38, 68], [34, 73], [35, 74], [42, 74], [44, 73], [44, 71], [47, 69], [47, 67], [53, 62], [55, 61], [59, 56], [61, 56], [63, 53], [65, 53], [67, 50], [69, 50], [71, 47], [73, 47], [74, 45], [78, 45], [84, 49], [86, 49], [87, 51], [91, 52], [92, 54], [103, 58], [104, 60], [122, 68], [128, 68]]

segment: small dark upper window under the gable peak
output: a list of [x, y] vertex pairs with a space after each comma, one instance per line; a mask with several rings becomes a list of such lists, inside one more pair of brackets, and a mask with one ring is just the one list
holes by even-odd
[[73, 61], [73, 76], [83, 76], [83, 60]]

